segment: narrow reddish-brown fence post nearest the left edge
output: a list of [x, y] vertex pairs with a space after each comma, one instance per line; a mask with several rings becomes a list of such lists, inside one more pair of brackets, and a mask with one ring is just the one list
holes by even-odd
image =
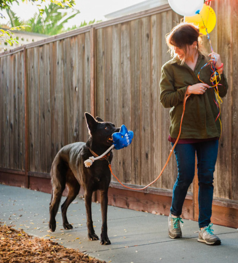
[[28, 94], [27, 94], [27, 51], [24, 46], [24, 109], [25, 109], [25, 188], [29, 188], [29, 156], [28, 156]]

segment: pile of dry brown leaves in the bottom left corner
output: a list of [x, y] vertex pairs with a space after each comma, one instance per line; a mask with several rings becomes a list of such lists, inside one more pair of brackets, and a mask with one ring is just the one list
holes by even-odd
[[[1, 263], [102, 263], [51, 240], [29, 236], [22, 230], [0, 225]], [[103, 262], [105, 263], [105, 262]]]

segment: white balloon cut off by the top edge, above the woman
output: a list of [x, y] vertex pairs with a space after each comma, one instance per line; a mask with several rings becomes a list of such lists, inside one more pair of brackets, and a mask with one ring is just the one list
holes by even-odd
[[204, 0], [168, 0], [170, 7], [182, 16], [193, 16], [202, 10]]

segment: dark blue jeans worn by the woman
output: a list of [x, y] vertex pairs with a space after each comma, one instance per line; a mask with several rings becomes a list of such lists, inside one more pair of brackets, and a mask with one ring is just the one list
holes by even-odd
[[[177, 144], [175, 155], [178, 177], [173, 188], [171, 213], [179, 216], [187, 190], [195, 173], [195, 152], [197, 153], [199, 227], [208, 226], [212, 216], [213, 173], [218, 153], [218, 140], [190, 144]], [[174, 146], [174, 143], [172, 143]]]

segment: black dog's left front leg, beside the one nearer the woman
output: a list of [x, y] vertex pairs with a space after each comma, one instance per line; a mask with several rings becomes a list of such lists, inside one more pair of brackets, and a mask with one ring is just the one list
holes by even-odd
[[85, 206], [86, 206], [86, 215], [87, 215], [87, 228], [88, 228], [88, 239], [89, 240], [99, 240], [98, 236], [95, 234], [93, 229], [93, 220], [92, 220], [92, 192], [85, 191]]

